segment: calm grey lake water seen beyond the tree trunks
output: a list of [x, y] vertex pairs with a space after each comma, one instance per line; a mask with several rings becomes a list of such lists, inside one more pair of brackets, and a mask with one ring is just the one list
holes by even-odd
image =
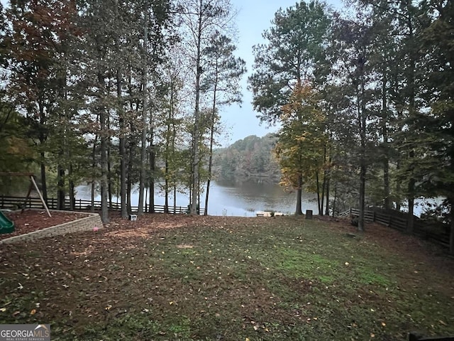
[[[76, 197], [82, 200], [90, 200], [91, 193], [89, 186], [78, 186]], [[228, 182], [213, 181], [209, 194], [209, 215], [228, 215], [237, 217], [254, 217], [255, 212], [273, 210], [293, 214], [297, 205], [296, 193], [286, 193], [275, 184], [259, 183], [257, 181]], [[95, 200], [101, 200], [96, 195]], [[113, 199], [116, 202], [116, 197]], [[131, 195], [133, 206], [138, 205], [138, 191]], [[205, 202], [205, 195], [201, 195], [201, 202]], [[173, 205], [173, 199], [169, 200]], [[186, 207], [189, 204], [188, 195], [177, 194], [177, 206]], [[155, 193], [155, 205], [164, 205], [164, 195]], [[317, 208], [316, 195], [303, 193], [302, 210], [313, 210], [314, 214], [319, 212]], [[201, 205], [204, 206], [203, 204]]]

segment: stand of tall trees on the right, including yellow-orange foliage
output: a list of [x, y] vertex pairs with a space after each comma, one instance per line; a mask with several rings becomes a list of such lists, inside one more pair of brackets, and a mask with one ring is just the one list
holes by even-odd
[[[249, 78], [262, 121], [279, 123], [282, 185], [319, 211], [445, 197], [454, 252], [454, 3], [300, 1], [275, 13]], [[331, 206], [331, 207], [329, 207]]]

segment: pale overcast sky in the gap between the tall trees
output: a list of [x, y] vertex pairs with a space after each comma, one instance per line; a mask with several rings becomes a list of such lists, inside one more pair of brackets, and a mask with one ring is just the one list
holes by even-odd
[[[260, 125], [260, 120], [256, 118], [257, 112], [253, 111], [252, 93], [246, 89], [247, 78], [252, 71], [254, 57], [253, 45], [263, 43], [262, 33], [271, 27], [271, 21], [279, 8], [287, 9], [294, 6], [297, 0], [231, 0], [233, 6], [238, 9], [238, 50], [236, 55], [246, 61], [248, 74], [243, 77], [243, 104], [241, 107], [235, 104], [223, 109], [221, 117], [228, 129], [229, 136], [223, 145], [244, 139], [249, 135], [263, 136], [267, 133], [276, 131], [276, 128], [267, 129], [266, 124]], [[328, 5], [340, 9], [341, 0], [327, 0]]]

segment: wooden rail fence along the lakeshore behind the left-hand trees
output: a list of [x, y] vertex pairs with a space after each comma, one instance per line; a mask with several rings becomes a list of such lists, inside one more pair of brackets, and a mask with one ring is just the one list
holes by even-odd
[[[50, 210], [57, 210], [57, 199], [51, 197], [48, 198], [48, 207]], [[82, 211], [89, 211], [92, 210], [92, 205], [94, 207], [94, 210], [101, 210], [101, 201], [94, 201], [92, 200], [82, 200], [82, 199], [77, 199], [74, 202], [74, 210], [82, 210]], [[0, 196], [0, 208], [3, 209], [8, 209], [8, 210], [20, 210], [21, 208], [35, 208], [35, 209], [44, 209], [43, 207], [43, 202], [40, 201], [39, 197], [28, 197], [26, 200], [26, 197], [11, 197], [11, 196], [6, 196], [6, 195], [1, 195]], [[65, 208], [69, 210], [71, 207], [70, 200], [65, 199]], [[146, 205], [145, 207], [145, 212], [150, 212], [150, 206]], [[164, 205], [154, 205], [154, 212], [155, 213], [165, 213], [165, 206]], [[109, 205], [109, 210], [113, 211], [119, 211], [121, 210], [121, 205], [112, 202], [111, 205]], [[170, 214], [186, 214], [188, 208], [187, 207], [182, 207], [182, 206], [169, 206], [167, 207], [167, 213]], [[133, 206], [131, 207], [132, 212], [137, 212], [138, 207]], [[204, 214], [204, 208], [201, 208], [199, 210], [199, 214], [203, 215]]]

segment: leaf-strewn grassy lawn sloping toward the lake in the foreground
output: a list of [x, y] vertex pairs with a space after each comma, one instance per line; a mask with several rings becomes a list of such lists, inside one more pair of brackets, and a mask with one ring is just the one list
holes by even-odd
[[0, 323], [52, 340], [406, 340], [454, 335], [454, 261], [371, 225], [140, 217], [0, 245]]

